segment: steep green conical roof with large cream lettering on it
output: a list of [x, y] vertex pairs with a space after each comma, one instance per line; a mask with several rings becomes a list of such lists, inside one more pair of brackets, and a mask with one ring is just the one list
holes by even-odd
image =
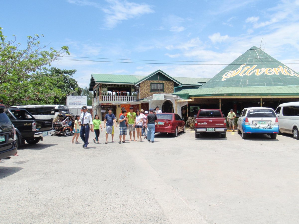
[[299, 74], [256, 46], [200, 87], [262, 87], [299, 85]]

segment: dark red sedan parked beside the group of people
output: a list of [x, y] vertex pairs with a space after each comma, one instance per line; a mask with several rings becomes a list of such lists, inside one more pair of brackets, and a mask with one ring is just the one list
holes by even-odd
[[155, 133], [172, 133], [174, 137], [178, 136], [179, 132], [186, 132], [186, 124], [176, 113], [158, 113], [157, 124], [155, 124]]

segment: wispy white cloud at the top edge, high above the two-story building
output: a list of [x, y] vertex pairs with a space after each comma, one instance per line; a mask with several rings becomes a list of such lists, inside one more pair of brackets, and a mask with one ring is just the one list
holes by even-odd
[[148, 4], [137, 4], [128, 1], [106, 0], [109, 8], [103, 8], [106, 13], [105, 20], [106, 26], [109, 28], [115, 27], [123, 20], [133, 19], [143, 14], [153, 13], [152, 6]]

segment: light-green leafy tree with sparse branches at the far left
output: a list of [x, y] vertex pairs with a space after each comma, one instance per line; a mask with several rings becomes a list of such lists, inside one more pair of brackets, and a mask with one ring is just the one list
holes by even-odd
[[10, 106], [54, 101], [63, 91], [51, 89], [54, 80], [43, 76], [47, 71], [43, 66], [50, 66], [57, 58], [69, 55], [68, 47], [62, 46], [59, 51], [50, 47], [47, 51], [47, 46], [40, 46], [39, 38], [43, 36], [35, 34], [27, 36], [25, 49], [20, 49], [21, 44], [16, 43], [16, 37], [12, 41], [5, 40], [1, 29], [0, 27], [0, 103]]

